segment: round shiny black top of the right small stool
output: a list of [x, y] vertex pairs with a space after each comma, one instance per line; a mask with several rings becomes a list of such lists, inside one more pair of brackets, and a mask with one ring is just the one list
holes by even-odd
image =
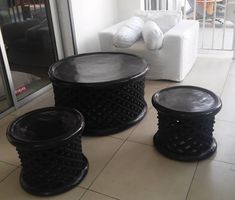
[[222, 103], [213, 92], [195, 86], [169, 87], [152, 97], [155, 108], [181, 114], [211, 114], [218, 112]]

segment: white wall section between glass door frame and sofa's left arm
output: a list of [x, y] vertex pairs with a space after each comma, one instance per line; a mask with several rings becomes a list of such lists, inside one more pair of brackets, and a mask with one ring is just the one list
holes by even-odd
[[71, 0], [78, 53], [99, 51], [98, 32], [117, 22], [118, 0]]

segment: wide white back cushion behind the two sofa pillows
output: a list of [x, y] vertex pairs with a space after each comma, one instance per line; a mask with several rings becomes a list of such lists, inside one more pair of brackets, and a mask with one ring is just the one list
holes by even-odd
[[138, 11], [136, 16], [141, 17], [145, 22], [154, 21], [163, 33], [169, 31], [182, 20], [182, 13], [173, 10]]

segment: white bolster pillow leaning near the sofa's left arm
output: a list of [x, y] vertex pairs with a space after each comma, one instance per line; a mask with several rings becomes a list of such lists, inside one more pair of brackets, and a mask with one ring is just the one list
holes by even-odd
[[144, 21], [140, 17], [131, 17], [113, 37], [113, 45], [119, 48], [132, 46], [141, 36]]

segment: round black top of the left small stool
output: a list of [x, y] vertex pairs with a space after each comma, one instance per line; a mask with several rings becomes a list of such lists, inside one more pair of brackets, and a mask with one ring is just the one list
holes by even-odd
[[71, 108], [48, 107], [28, 112], [9, 126], [9, 141], [23, 148], [48, 148], [64, 142], [84, 128], [81, 113]]

